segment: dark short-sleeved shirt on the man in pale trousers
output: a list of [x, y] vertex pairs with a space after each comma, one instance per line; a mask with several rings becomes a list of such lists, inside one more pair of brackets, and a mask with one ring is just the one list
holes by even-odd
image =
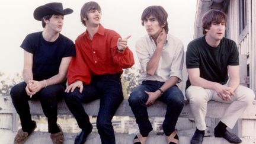
[[[212, 47], [206, 43], [205, 36], [203, 36], [188, 44], [187, 69], [199, 68], [201, 78], [226, 84], [229, 65], [239, 65], [239, 53], [235, 41], [223, 37], [219, 46]], [[190, 85], [188, 79], [186, 89]]]

